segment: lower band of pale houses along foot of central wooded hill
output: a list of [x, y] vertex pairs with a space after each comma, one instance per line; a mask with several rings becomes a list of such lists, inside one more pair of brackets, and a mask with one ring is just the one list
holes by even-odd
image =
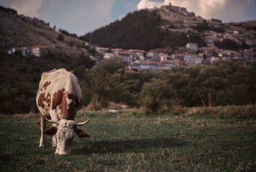
[[102, 48], [96, 50], [104, 55], [104, 59], [121, 57], [129, 69], [170, 70], [175, 66], [194, 66], [196, 64], [212, 64], [214, 61], [254, 61], [256, 47], [240, 51], [223, 50], [216, 47], [200, 47], [196, 43], [187, 43], [182, 54], [154, 54], [144, 50], [123, 50], [120, 48]]

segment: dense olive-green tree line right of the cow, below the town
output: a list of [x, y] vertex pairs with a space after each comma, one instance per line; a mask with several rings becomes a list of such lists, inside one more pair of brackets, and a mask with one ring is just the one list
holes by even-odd
[[171, 71], [130, 71], [116, 59], [87, 70], [83, 79], [85, 104], [109, 101], [157, 111], [163, 106], [219, 106], [256, 103], [256, 62], [220, 61], [212, 66]]

